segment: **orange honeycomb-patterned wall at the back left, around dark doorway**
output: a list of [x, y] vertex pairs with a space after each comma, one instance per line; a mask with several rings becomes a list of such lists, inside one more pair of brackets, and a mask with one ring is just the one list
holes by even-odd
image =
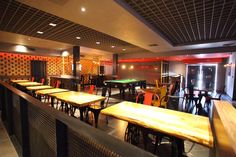
[[[47, 75], [72, 75], [73, 56], [64, 57], [48, 57], [48, 56], [32, 56], [24, 54], [15, 54], [0, 52], [0, 76], [30, 76], [30, 61], [41, 60], [47, 61]], [[81, 74], [98, 74], [98, 62], [81, 59]]]

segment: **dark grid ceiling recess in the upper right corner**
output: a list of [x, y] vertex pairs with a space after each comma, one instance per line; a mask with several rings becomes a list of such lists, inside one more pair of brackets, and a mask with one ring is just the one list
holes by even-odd
[[236, 39], [236, 0], [116, 0], [173, 46]]

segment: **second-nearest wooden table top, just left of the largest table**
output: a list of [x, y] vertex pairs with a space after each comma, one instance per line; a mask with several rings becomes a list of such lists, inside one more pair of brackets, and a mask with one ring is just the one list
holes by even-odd
[[74, 106], [78, 107], [87, 106], [92, 103], [105, 100], [105, 97], [103, 96], [75, 91], [54, 93], [49, 94], [49, 96], [56, 97], [57, 99], [65, 101], [67, 103], [72, 103]]

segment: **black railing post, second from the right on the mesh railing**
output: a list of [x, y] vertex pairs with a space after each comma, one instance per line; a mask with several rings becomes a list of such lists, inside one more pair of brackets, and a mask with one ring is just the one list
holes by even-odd
[[21, 117], [21, 135], [22, 135], [22, 155], [30, 156], [29, 147], [29, 123], [28, 123], [28, 103], [20, 97], [20, 117]]

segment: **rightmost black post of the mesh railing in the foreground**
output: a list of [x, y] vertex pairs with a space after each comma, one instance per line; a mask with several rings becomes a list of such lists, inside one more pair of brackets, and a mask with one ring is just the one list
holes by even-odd
[[57, 157], [67, 157], [67, 125], [56, 119]]

